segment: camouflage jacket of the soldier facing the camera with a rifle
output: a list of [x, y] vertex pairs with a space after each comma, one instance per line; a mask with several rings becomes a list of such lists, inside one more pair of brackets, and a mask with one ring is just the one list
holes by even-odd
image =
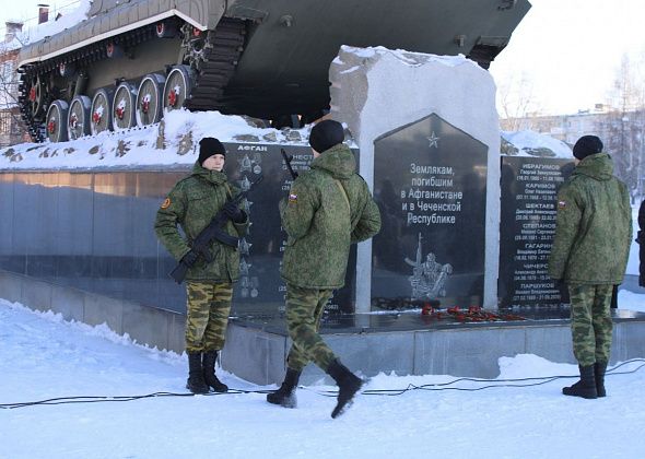
[[[175, 260], [180, 260], [190, 250], [191, 242], [208, 226], [226, 200], [238, 192], [237, 188], [228, 185], [226, 174], [208, 170], [196, 163], [192, 174], [175, 185], [156, 212], [156, 236]], [[186, 238], [179, 234], [177, 224], [181, 226]], [[223, 229], [232, 236], [242, 237], [247, 227], [248, 219], [243, 224], [234, 224], [228, 220]], [[209, 263], [200, 257], [188, 270], [186, 280], [235, 282], [239, 278], [239, 251], [214, 240], [211, 254], [215, 256], [214, 260]]]

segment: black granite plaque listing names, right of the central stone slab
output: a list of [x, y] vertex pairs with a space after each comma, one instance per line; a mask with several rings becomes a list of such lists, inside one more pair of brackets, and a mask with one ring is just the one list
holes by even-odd
[[549, 307], [567, 301], [548, 274], [558, 189], [571, 160], [502, 157], [499, 296], [501, 307]]

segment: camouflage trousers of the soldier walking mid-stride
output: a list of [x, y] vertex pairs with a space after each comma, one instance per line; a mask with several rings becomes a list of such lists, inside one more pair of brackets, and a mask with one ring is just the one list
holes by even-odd
[[291, 369], [302, 372], [309, 362], [314, 362], [326, 372], [336, 358], [318, 334], [320, 318], [331, 294], [331, 290], [286, 285], [286, 326], [293, 341], [286, 365]]

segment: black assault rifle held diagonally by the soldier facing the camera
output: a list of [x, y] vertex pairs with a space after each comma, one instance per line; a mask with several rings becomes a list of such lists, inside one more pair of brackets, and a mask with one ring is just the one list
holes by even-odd
[[[233, 202], [234, 204], [238, 204], [248, 192], [260, 181], [262, 181], [262, 176], [260, 175], [254, 183], [250, 184], [250, 187], [246, 190], [237, 195], [233, 199], [228, 199], [226, 202]], [[199, 235], [192, 242], [192, 246], [190, 251], [187, 252], [179, 263], [175, 267], [175, 269], [171, 272], [171, 278], [175, 280], [178, 284], [184, 282], [186, 278], [186, 272], [195, 266], [195, 263], [199, 260], [200, 257], [203, 257], [209, 263], [213, 261], [214, 255], [211, 254], [210, 245], [213, 240], [219, 240], [222, 244], [225, 244], [231, 247], [237, 247], [239, 239], [235, 236], [231, 236], [226, 232], [222, 229], [222, 227], [228, 221], [228, 216], [224, 213], [223, 209], [213, 216], [211, 222], [208, 224], [206, 228], [199, 233]]]

